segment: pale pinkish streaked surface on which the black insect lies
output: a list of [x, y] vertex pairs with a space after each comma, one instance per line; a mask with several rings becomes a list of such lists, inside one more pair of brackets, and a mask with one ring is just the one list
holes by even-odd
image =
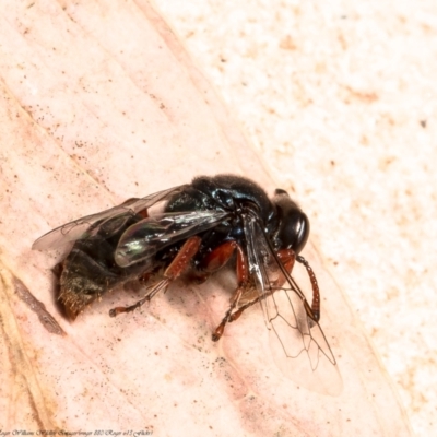
[[[131, 318], [107, 317], [122, 294], [110, 295], [74, 324], [59, 317], [49, 272], [57, 256], [29, 251], [48, 228], [199, 173], [246, 174], [268, 190], [275, 184], [146, 2], [3, 8], [4, 429], [410, 435], [359, 322], [311, 246], [306, 253], [326, 295], [323, 327], [344, 381], [338, 398], [284, 380], [265, 350], [259, 311], [213, 344], [211, 329], [226, 305], [217, 290], [184, 295], [175, 290]], [[316, 236], [317, 226], [316, 221]], [[66, 335], [44, 329], [17, 297], [14, 276]]]

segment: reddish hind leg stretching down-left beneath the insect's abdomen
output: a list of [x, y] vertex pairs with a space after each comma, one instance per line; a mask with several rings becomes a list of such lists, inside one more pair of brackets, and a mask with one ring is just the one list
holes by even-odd
[[179, 252], [176, 255], [174, 260], [167, 267], [164, 272], [164, 280], [160, 281], [152, 290], [140, 300], [129, 307], [116, 307], [109, 311], [110, 317], [116, 317], [120, 312], [130, 312], [134, 309], [141, 307], [145, 302], [149, 302], [155, 294], [161, 292], [162, 290], [166, 290], [168, 285], [175, 281], [178, 276], [180, 276], [184, 271], [190, 265], [190, 262], [194, 255], [198, 252], [200, 247], [201, 238], [200, 237], [191, 237], [188, 238], [187, 241], [184, 243], [184, 246], [180, 248]]

